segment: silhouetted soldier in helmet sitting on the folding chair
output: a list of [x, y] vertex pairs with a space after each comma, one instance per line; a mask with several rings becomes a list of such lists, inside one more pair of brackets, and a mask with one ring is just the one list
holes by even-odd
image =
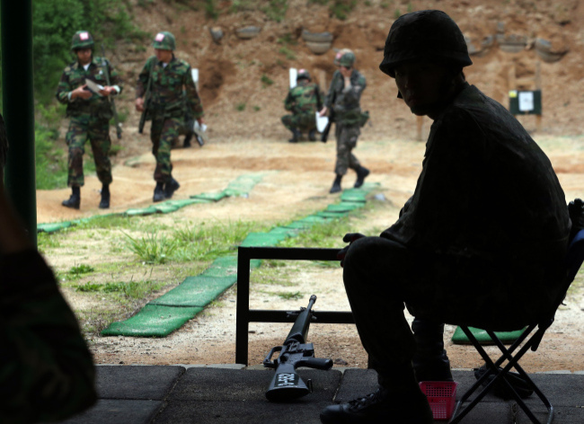
[[571, 231], [562, 187], [509, 110], [466, 83], [471, 63], [447, 13], [407, 13], [389, 31], [379, 67], [434, 123], [398, 220], [378, 237], [343, 239], [345, 289], [379, 388], [327, 407], [323, 423], [431, 424], [418, 383], [452, 380], [444, 322], [517, 330], [562, 301]]

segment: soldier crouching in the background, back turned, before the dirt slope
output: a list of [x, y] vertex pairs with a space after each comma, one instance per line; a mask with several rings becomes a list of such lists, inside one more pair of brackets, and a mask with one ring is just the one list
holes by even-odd
[[308, 71], [300, 69], [296, 75], [296, 86], [290, 89], [284, 101], [284, 108], [292, 112], [282, 117], [284, 127], [292, 131], [292, 138], [288, 140], [290, 143], [296, 143], [303, 131], [308, 132], [310, 141], [316, 141], [315, 113], [322, 107], [323, 94], [318, 84], [311, 83]]

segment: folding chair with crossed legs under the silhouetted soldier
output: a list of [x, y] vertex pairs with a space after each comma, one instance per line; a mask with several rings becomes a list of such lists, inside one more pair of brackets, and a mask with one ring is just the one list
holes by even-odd
[[[570, 243], [570, 247], [568, 249], [568, 254], [566, 256], [566, 269], [567, 274], [566, 278], [563, 281], [563, 294], [568, 291], [568, 288], [571, 285], [571, 282], [576, 277], [582, 262], [584, 261], [584, 230], [580, 230]], [[563, 299], [563, 296], [562, 296]], [[544, 337], [545, 331], [552, 325], [555, 312], [557, 308], [562, 305], [556, 305], [553, 309], [552, 314], [544, 316], [540, 322], [535, 322], [529, 325], [525, 331], [521, 333], [518, 340], [513, 342], [513, 344], [507, 349], [505, 345], [500, 341], [494, 331], [487, 331], [487, 334], [491, 337], [494, 341], [495, 345], [500, 349], [502, 355], [498, 358], [495, 362], [491, 360], [489, 355], [482, 349], [481, 344], [478, 340], [473, 336], [473, 333], [468, 329], [468, 327], [460, 326], [461, 330], [465, 332], [466, 337], [471, 341], [474, 348], [479, 352], [481, 357], [485, 361], [485, 365], [487, 367], [487, 372], [485, 372], [477, 381], [473, 384], [473, 386], [461, 396], [461, 398], [456, 402], [456, 408], [452, 415], [449, 424], [456, 424], [465, 418], [466, 414], [468, 414], [474, 406], [481, 402], [482, 398], [489, 393], [495, 386], [495, 384], [504, 384], [504, 387], [508, 389], [511, 397], [518, 402], [518, 405], [521, 409], [526, 413], [529, 420], [531, 420], [534, 424], [541, 424], [539, 420], [535, 418], [534, 413], [526, 406], [526, 403], [523, 402], [519, 394], [513, 388], [508, 381], [508, 373], [511, 368], [515, 368], [518, 374], [525, 380], [526, 385], [531, 388], [535, 394], [539, 397], [539, 399], [544, 403], [545, 408], [547, 409], [547, 421], [546, 424], [551, 424], [553, 420], [553, 405], [550, 401], [545, 397], [544, 393], [535, 385], [533, 380], [529, 378], [526, 372], [523, 370], [522, 367], [519, 366], [518, 361], [525, 355], [527, 349], [531, 349], [535, 352], [539, 347], [539, 343], [542, 341]], [[533, 334], [532, 331], [535, 331]], [[529, 337], [531, 334], [531, 337]], [[521, 346], [519, 346], [529, 337], [529, 339]], [[513, 352], [518, 349], [518, 352], [513, 356]], [[505, 367], [500, 367], [505, 361], [509, 361]], [[464, 408], [463, 404], [469, 400], [469, 398], [473, 395], [477, 388], [479, 388], [484, 382], [488, 381], [491, 378], [491, 381], [484, 386], [482, 391], [473, 398], [473, 400], [466, 405]]]

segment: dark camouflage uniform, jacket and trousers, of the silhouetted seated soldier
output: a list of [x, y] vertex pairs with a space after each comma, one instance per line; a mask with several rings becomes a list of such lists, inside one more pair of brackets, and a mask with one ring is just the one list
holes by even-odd
[[518, 330], [556, 305], [570, 227], [544, 152], [508, 110], [465, 84], [432, 124], [397, 222], [352, 243], [345, 258], [351, 309], [377, 372], [411, 361], [404, 303], [416, 318], [495, 331]]

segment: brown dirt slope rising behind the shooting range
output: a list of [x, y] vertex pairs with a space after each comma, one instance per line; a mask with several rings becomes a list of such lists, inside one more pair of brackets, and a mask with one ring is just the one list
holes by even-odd
[[[367, 77], [362, 104], [371, 112], [372, 126], [366, 128], [364, 137], [378, 134], [415, 137], [415, 118], [395, 98], [393, 80], [377, 66], [397, 11], [437, 7], [458, 22], [472, 49], [480, 50], [485, 38], [496, 37], [498, 33], [505, 40], [526, 38], [526, 48], [518, 53], [503, 51], [495, 40], [491, 48], [473, 55], [474, 65], [465, 71], [471, 84], [507, 104], [509, 89], [529, 88], [509, 87], [509, 67], [516, 67], [518, 78], [529, 78], [535, 76], [535, 62], [539, 60], [544, 110], [541, 131], [556, 135], [582, 132], [584, 5], [579, 0], [369, 1], [358, 2], [344, 21], [332, 17], [326, 5], [289, 0], [282, 22], [270, 21], [261, 12], [268, 2], [248, 2], [253, 4], [250, 10], [239, 13], [228, 12], [234, 2], [214, 3], [221, 12], [217, 21], [206, 18], [203, 10], [179, 7], [173, 2], [155, 2], [146, 8], [136, 5], [134, 11], [142, 30], [153, 35], [157, 31], [172, 31], [177, 39], [176, 56], [199, 68], [199, 91], [207, 112], [209, 134], [217, 141], [232, 137], [288, 137], [279, 122], [285, 113], [288, 68], [307, 68], [327, 89], [334, 71], [334, 50], [342, 48], [355, 51], [357, 67]], [[247, 26], [257, 26], [261, 31], [251, 40], [239, 39], [235, 31]], [[210, 28], [225, 34], [218, 43], [213, 41]], [[332, 48], [323, 55], [315, 55], [301, 37], [303, 29], [331, 32]], [[538, 38], [550, 41], [553, 51], [565, 51], [562, 59], [554, 63], [542, 61], [534, 47]], [[293, 43], [283, 42], [284, 39]], [[111, 55], [126, 81], [126, 91], [119, 102], [122, 110], [129, 111], [122, 156], [136, 153], [138, 117], [133, 107], [134, 86], [137, 73], [151, 54], [149, 42], [146, 51], [122, 42]], [[267, 79], [273, 84], [266, 84]], [[244, 110], [237, 110], [238, 105], [240, 109], [245, 105]], [[522, 120], [527, 128], [535, 129], [533, 117]]]

